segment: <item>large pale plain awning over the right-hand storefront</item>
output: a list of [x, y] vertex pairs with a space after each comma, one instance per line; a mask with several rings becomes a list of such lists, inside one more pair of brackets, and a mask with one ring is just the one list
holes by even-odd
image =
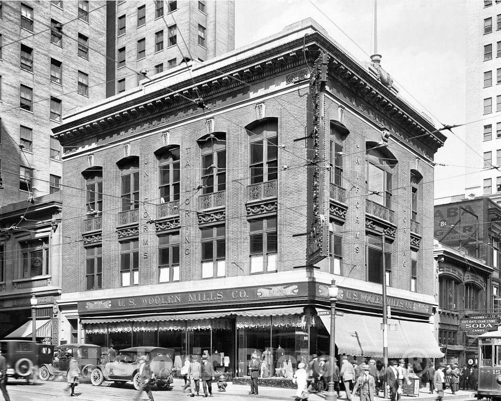
[[[330, 315], [320, 315], [330, 333]], [[381, 317], [343, 313], [336, 315], [336, 345], [339, 353], [348, 355], [383, 356]], [[393, 330], [388, 331], [388, 357], [439, 358], [443, 356], [431, 325], [426, 322], [388, 319]]]

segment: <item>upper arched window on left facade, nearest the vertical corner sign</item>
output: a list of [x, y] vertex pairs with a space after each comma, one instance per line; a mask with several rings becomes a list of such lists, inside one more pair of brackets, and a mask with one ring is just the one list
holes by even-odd
[[278, 169], [278, 121], [265, 121], [247, 130], [249, 135], [250, 183], [277, 179]]

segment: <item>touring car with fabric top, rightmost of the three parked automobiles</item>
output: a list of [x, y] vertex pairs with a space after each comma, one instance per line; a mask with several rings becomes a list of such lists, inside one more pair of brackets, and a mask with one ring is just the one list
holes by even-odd
[[140, 356], [146, 355], [152, 371], [150, 384], [156, 384], [160, 390], [170, 390], [172, 383], [172, 366], [174, 350], [159, 347], [132, 347], [120, 350], [114, 361], [97, 366], [91, 373], [93, 385], [101, 385], [104, 380], [114, 381], [124, 385], [132, 381], [135, 389], [141, 388], [141, 374], [139, 373]]

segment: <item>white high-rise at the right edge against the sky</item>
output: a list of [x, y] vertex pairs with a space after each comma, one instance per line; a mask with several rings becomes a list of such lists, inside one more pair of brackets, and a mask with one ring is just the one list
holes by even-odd
[[[465, 195], [501, 201], [501, 3], [466, 3]], [[483, 155], [483, 160], [482, 160]]]

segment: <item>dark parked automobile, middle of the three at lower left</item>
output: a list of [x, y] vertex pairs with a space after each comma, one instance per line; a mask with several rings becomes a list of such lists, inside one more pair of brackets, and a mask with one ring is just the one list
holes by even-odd
[[39, 377], [41, 380], [49, 380], [51, 377], [65, 375], [68, 373], [70, 359], [66, 353], [71, 353], [78, 361], [82, 377], [90, 377], [92, 370], [99, 364], [101, 347], [94, 344], [63, 344], [56, 347], [56, 353], [52, 363], [44, 363], [39, 367]]

